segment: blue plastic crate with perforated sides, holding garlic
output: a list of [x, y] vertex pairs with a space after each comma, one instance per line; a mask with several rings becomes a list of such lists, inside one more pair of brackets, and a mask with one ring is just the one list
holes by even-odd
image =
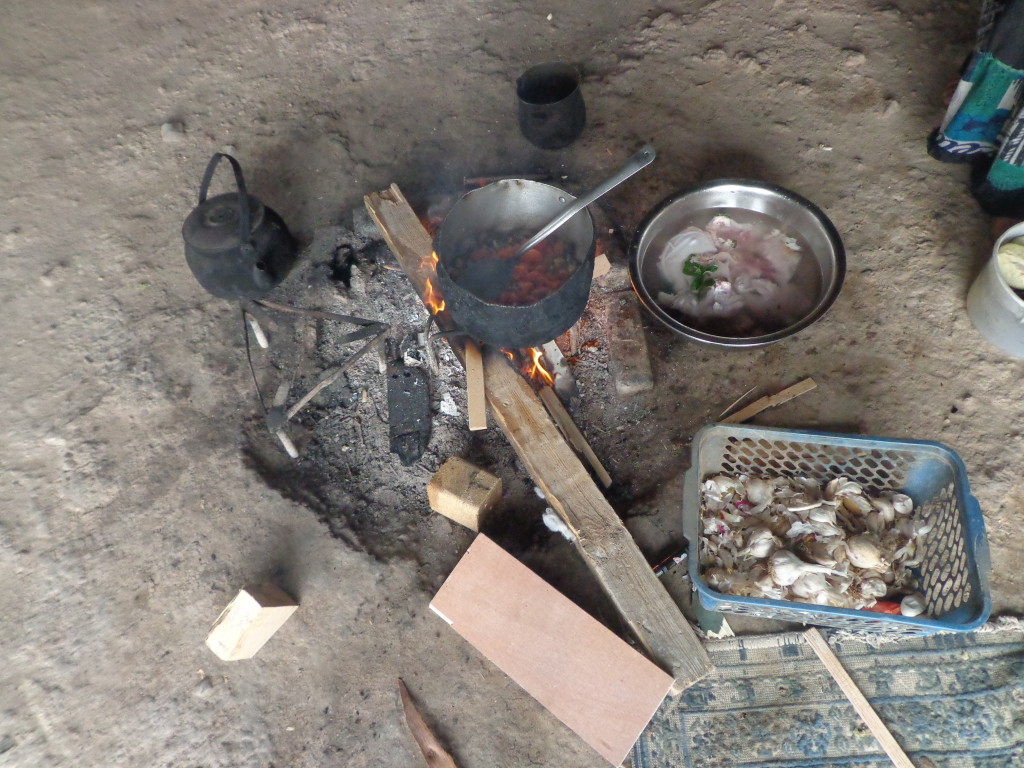
[[[809, 477], [844, 475], [865, 489], [898, 489], [913, 500], [915, 516], [934, 524], [913, 572], [926, 611], [920, 616], [808, 605], [717, 592], [700, 578], [700, 484], [709, 475]], [[967, 469], [938, 442], [860, 437], [830, 432], [712, 424], [693, 438], [692, 466], [683, 487], [683, 531], [689, 573], [700, 604], [715, 611], [896, 635], [967, 632], [991, 611], [985, 521], [971, 495]]]

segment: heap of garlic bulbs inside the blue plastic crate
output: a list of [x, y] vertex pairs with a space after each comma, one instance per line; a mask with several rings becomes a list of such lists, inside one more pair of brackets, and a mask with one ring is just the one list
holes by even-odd
[[[919, 588], [934, 522], [849, 477], [715, 474], [701, 482], [701, 572], [734, 595], [861, 609]], [[907, 603], [914, 610], [914, 601]]]

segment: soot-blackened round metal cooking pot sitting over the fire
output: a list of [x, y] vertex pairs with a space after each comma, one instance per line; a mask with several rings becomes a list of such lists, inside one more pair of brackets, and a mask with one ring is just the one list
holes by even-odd
[[464, 195], [445, 217], [434, 239], [437, 283], [445, 309], [459, 330], [504, 349], [535, 347], [561, 336], [580, 319], [594, 276], [594, 219], [580, 211], [551, 237], [572, 247], [578, 261], [562, 285], [525, 306], [484, 301], [452, 278], [453, 259], [462, 258], [487, 233], [539, 231], [575, 198], [550, 184], [505, 179]]

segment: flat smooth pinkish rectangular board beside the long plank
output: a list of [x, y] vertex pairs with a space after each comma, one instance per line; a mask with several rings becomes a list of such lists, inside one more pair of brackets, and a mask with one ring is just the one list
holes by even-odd
[[484, 536], [430, 607], [615, 766], [672, 685], [671, 677]]

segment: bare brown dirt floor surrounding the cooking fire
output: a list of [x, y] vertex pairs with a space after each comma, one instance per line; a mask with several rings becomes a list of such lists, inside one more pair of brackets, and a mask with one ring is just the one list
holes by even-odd
[[[548, 172], [579, 190], [653, 142], [655, 164], [603, 204], [617, 268], [577, 362], [579, 421], [642, 548], [680, 537], [694, 431], [753, 387], [813, 376], [815, 392], [758, 423], [948, 444], [985, 513], [995, 611], [1024, 610], [1024, 362], [970, 324], [988, 223], [966, 171], [925, 152], [976, 14], [926, 0], [6, 3], [0, 765], [419, 766], [399, 677], [462, 766], [599, 762], [427, 608], [469, 535], [429, 511], [425, 485], [471, 455], [506, 481], [495, 536], [615, 626], [501, 433], [466, 431], [451, 358], [413, 467], [388, 452], [375, 359], [303, 414], [300, 461], [262, 427], [238, 307], [182, 256], [225, 146], [306, 247], [275, 295], [408, 335], [425, 314], [386, 253], [348, 287], [331, 276], [365, 194], [398, 182], [426, 215], [464, 175]], [[518, 132], [513, 83], [554, 58], [582, 67], [589, 119], [543, 152]], [[624, 285], [621, 243], [668, 194], [721, 176], [822, 207], [848, 250], [843, 293], [761, 350], [650, 324], [656, 387], [620, 399], [600, 307]], [[297, 370], [298, 392], [347, 349], [329, 324], [268, 325], [264, 389]], [[254, 659], [219, 662], [211, 624], [265, 578], [301, 608]]]

